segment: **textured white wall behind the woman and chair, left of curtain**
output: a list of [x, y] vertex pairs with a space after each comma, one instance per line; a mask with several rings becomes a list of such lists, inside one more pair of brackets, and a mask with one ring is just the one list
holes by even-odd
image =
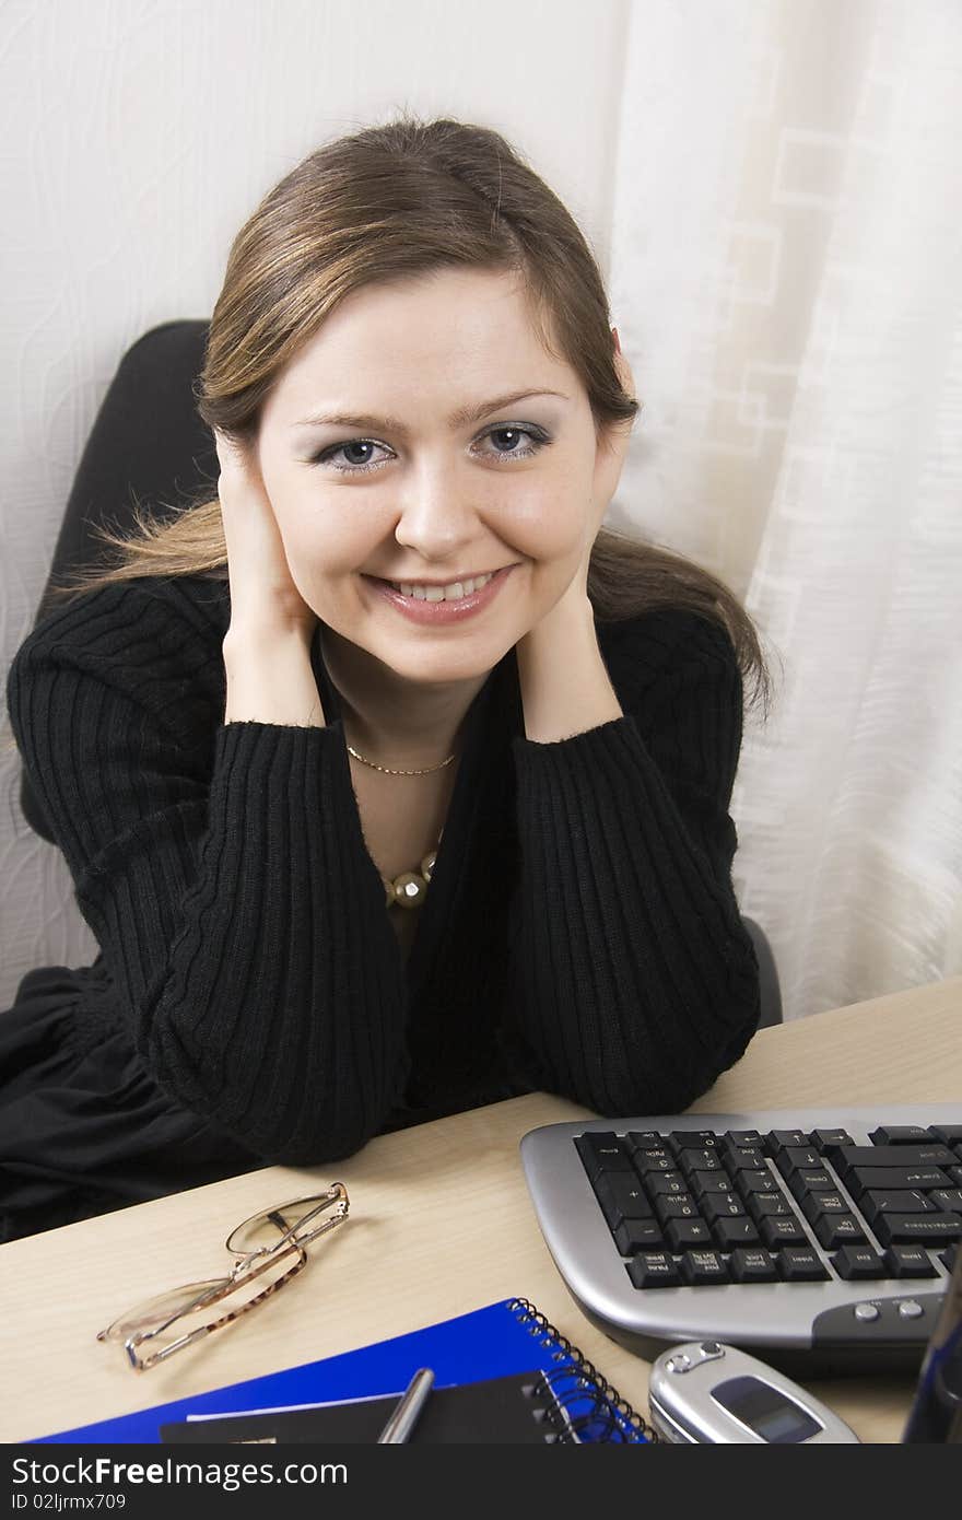
[[[0, 9], [0, 635], [32, 626], [73, 471], [123, 351], [207, 316], [233, 234], [322, 141], [401, 108], [505, 132], [608, 269], [629, 0], [5, 0]], [[0, 737], [9, 739], [6, 704]], [[0, 1009], [87, 965], [67, 868], [0, 755]]]

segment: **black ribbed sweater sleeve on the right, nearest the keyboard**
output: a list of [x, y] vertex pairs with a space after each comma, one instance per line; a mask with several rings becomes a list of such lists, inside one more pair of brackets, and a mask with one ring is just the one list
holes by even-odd
[[506, 1056], [529, 1084], [612, 1117], [682, 1111], [760, 1015], [726, 810], [742, 675], [704, 619], [666, 614], [658, 628], [608, 661], [623, 717], [512, 740], [521, 865]]

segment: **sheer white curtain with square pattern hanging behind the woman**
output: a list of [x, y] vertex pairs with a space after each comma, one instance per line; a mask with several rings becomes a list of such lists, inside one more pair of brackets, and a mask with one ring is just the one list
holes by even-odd
[[962, 6], [635, 0], [611, 521], [775, 678], [733, 796], [784, 1017], [962, 973]]

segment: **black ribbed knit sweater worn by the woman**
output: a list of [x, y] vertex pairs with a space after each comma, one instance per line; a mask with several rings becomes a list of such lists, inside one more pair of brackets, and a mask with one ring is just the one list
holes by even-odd
[[731, 886], [742, 678], [690, 613], [597, 623], [625, 716], [524, 737], [514, 649], [476, 696], [407, 965], [325, 728], [223, 724], [225, 582], [112, 585], [21, 644], [29, 778], [153, 1081], [264, 1161], [541, 1088], [673, 1113], [736, 1061], [758, 967]]

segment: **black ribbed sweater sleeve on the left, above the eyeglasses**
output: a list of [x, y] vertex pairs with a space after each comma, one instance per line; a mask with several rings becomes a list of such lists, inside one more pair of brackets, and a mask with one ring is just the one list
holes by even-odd
[[340, 724], [225, 727], [210, 643], [137, 587], [108, 602], [27, 637], [8, 707], [137, 1050], [266, 1161], [350, 1155], [409, 1056]]

